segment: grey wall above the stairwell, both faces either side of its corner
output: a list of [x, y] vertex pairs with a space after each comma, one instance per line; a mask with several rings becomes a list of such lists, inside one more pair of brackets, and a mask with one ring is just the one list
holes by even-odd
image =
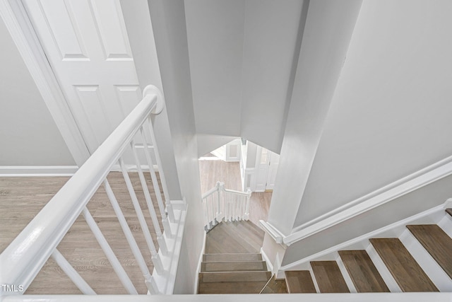
[[280, 152], [304, 1], [186, 1], [196, 132]]

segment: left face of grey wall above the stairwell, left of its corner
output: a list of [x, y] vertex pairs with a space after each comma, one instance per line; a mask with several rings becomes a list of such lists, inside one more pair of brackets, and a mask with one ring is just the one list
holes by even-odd
[[186, 1], [196, 131], [239, 137], [244, 1]]

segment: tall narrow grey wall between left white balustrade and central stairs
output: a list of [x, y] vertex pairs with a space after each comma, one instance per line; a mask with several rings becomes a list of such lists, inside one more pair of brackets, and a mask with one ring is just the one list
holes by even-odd
[[172, 144], [182, 195], [188, 212], [174, 294], [194, 294], [198, 260], [203, 247], [201, 185], [184, 1], [149, 0], [157, 57], [167, 105]]

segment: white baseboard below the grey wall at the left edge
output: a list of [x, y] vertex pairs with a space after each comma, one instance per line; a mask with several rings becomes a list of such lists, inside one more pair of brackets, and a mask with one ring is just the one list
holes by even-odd
[[0, 177], [72, 176], [77, 170], [77, 165], [2, 165]]

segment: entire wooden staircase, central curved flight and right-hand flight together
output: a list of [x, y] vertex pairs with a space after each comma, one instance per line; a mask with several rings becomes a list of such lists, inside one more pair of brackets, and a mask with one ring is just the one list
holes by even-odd
[[401, 236], [383, 233], [275, 279], [258, 253], [263, 231], [249, 221], [219, 223], [207, 234], [198, 294], [452, 292], [452, 209], [438, 224], [401, 226]]

